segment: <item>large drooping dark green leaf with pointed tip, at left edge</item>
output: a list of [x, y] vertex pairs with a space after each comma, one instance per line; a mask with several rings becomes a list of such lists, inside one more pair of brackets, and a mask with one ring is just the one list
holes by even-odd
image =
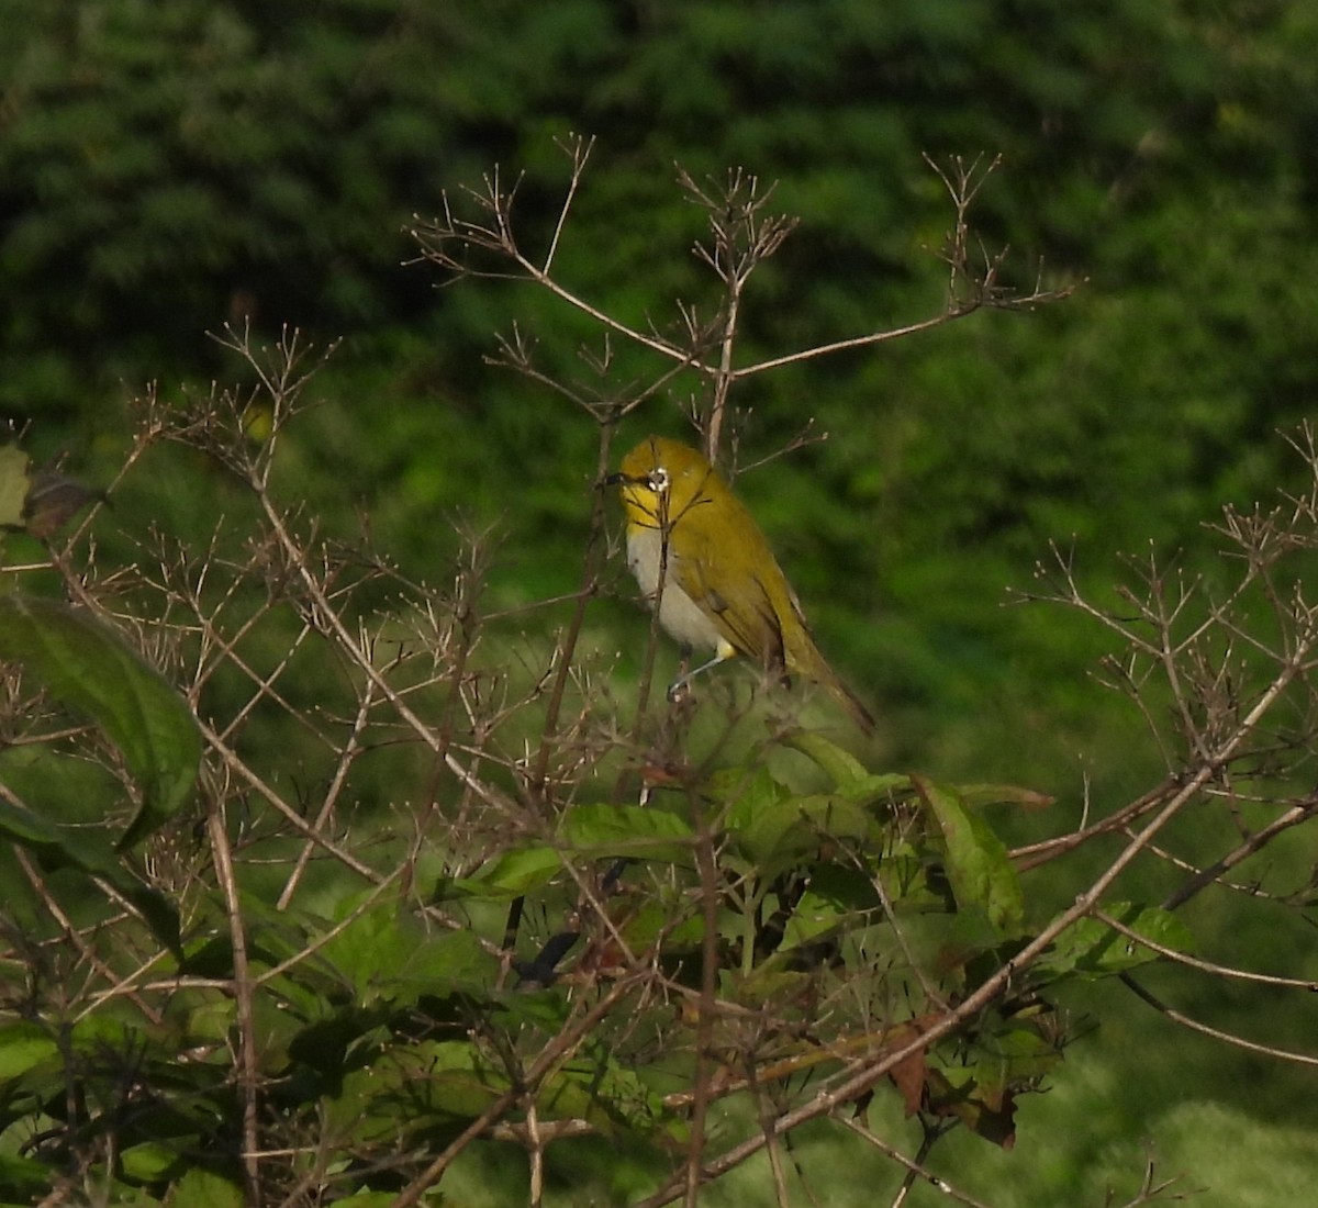
[[136, 843], [188, 800], [202, 739], [187, 702], [109, 628], [58, 601], [0, 595], [0, 659], [22, 663], [61, 701], [91, 715], [141, 786], [120, 839]]

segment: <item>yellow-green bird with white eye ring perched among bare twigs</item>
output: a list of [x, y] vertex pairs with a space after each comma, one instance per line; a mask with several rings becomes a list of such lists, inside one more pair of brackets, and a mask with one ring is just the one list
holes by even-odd
[[627, 564], [659, 623], [714, 657], [679, 680], [745, 655], [768, 671], [822, 684], [870, 734], [874, 718], [811, 638], [800, 601], [759, 526], [718, 472], [689, 445], [641, 441], [609, 485], [621, 487]]

